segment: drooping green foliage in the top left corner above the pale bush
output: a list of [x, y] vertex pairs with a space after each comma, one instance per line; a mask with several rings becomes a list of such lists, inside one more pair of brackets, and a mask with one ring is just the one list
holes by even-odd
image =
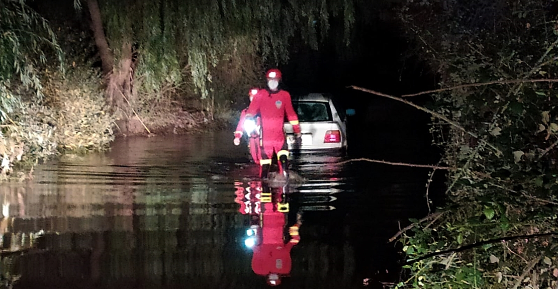
[[[62, 63], [62, 51], [47, 21], [24, 0], [0, 0], [0, 123], [19, 104], [14, 88], [20, 84], [42, 97], [38, 66], [54, 51]], [[60, 65], [62, 69], [62, 65]]]

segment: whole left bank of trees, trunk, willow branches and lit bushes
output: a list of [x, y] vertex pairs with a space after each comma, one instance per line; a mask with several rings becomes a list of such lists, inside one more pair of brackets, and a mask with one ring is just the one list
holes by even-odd
[[1, 4], [0, 179], [118, 135], [223, 127], [291, 41], [317, 49], [335, 20], [348, 43], [354, 22], [353, 1]]

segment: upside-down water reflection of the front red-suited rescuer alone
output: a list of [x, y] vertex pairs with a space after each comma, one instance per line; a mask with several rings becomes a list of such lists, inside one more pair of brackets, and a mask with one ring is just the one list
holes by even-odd
[[[254, 273], [266, 276], [267, 283], [277, 286], [281, 277], [291, 273], [291, 249], [300, 241], [299, 228], [302, 224], [301, 215], [297, 214], [296, 224], [288, 229], [290, 239], [285, 243], [284, 228], [288, 203], [281, 203], [281, 194], [267, 195], [262, 190], [261, 240], [252, 248], [252, 270]], [[268, 197], [266, 199], [266, 197]]]

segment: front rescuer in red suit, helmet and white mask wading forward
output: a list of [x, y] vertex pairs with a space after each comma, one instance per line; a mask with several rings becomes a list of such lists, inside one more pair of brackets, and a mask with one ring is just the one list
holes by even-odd
[[253, 118], [259, 113], [262, 119], [262, 159], [259, 161], [262, 178], [267, 177], [274, 154], [277, 155], [280, 174], [287, 173], [288, 147], [283, 129], [285, 116], [292, 124], [296, 136], [301, 136], [299, 118], [292, 108], [291, 95], [285, 90], [278, 89], [281, 71], [270, 69], [266, 73], [266, 78], [268, 89], [259, 90], [246, 111], [247, 118]]

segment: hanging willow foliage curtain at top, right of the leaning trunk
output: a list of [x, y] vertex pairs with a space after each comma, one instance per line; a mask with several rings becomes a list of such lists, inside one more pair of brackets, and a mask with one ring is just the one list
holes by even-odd
[[213, 90], [211, 70], [220, 61], [242, 62], [248, 53], [285, 62], [291, 41], [318, 47], [331, 18], [343, 19], [347, 35], [354, 22], [353, 0], [98, 1], [114, 57], [132, 45], [133, 76], [141, 89], [157, 91], [187, 78], [201, 98]]

